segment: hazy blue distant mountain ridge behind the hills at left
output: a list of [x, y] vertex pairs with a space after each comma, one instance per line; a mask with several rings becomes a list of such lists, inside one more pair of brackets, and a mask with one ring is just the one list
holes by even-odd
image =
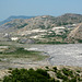
[[4, 23], [7, 23], [7, 22], [13, 21], [13, 20], [15, 20], [15, 19], [31, 19], [31, 17], [35, 17], [35, 16], [25, 16], [25, 15], [15, 16], [15, 15], [12, 15], [12, 16], [9, 16], [7, 20], [1, 21], [1, 22], [0, 22], [0, 25], [4, 24]]

